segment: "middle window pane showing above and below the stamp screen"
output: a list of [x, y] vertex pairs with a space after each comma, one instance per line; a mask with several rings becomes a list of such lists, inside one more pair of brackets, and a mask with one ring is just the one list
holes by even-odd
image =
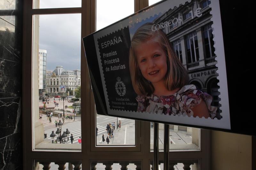
[[[113, 24], [134, 12], [133, 0], [97, 0], [96, 3], [96, 30]], [[119, 121], [121, 122], [121, 129], [117, 128]], [[114, 137], [111, 137], [112, 133], [110, 136], [108, 135], [107, 124], [110, 124], [111, 130], [113, 129]], [[113, 124], [115, 124], [115, 129]], [[104, 142], [102, 141], [103, 136]], [[109, 143], [106, 142], [107, 137]], [[135, 121], [96, 114], [96, 145], [135, 145]]]

